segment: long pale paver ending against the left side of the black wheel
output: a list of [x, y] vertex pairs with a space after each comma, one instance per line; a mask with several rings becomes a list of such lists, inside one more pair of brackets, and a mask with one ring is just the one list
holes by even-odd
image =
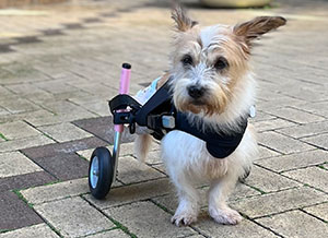
[[74, 179], [55, 185], [22, 190], [23, 197], [33, 204], [50, 202], [67, 197], [77, 197], [89, 192], [87, 178]]

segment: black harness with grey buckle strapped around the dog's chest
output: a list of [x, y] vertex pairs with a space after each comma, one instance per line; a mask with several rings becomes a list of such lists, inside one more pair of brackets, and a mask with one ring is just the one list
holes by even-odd
[[117, 95], [109, 102], [115, 124], [129, 123], [130, 133], [136, 132], [136, 123], [153, 131], [156, 140], [173, 130], [184, 131], [207, 144], [208, 152], [215, 158], [231, 155], [239, 145], [247, 128], [247, 117], [241, 118], [239, 130], [218, 132], [210, 128], [199, 130], [187, 119], [187, 114], [178, 111], [172, 103], [169, 84], [164, 84], [141, 106], [129, 95]]

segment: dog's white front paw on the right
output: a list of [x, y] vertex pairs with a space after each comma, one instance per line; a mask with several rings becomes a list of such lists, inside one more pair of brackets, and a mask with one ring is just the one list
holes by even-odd
[[211, 217], [220, 224], [225, 225], [236, 225], [242, 222], [243, 217], [241, 214], [230, 207], [220, 210], [220, 209], [210, 209], [209, 210]]

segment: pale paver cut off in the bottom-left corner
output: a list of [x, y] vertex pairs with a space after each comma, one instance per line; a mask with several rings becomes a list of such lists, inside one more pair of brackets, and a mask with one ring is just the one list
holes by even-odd
[[46, 224], [38, 224], [0, 234], [0, 238], [59, 238]]

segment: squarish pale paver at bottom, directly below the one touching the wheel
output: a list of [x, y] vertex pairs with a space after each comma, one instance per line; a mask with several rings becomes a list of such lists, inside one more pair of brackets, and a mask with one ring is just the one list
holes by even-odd
[[35, 205], [34, 209], [62, 236], [86, 236], [115, 226], [81, 198], [43, 203]]

